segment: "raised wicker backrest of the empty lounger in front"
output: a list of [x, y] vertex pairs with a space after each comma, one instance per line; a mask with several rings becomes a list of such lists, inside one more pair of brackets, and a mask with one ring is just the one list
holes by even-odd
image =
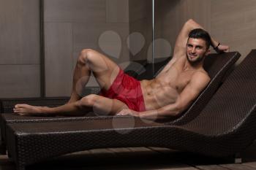
[[227, 77], [200, 115], [184, 126], [198, 130], [200, 134], [221, 135], [243, 129], [244, 133], [240, 135], [253, 136], [256, 134], [255, 107], [256, 50], [252, 50]]

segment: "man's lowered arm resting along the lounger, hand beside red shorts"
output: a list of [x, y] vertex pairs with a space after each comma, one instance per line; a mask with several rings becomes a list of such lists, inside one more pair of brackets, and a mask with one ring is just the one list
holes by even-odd
[[189, 84], [184, 88], [178, 99], [173, 104], [168, 104], [165, 107], [160, 107], [159, 109], [148, 110], [145, 112], [135, 112], [131, 109], [123, 109], [118, 112], [117, 115], [133, 115], [136, 117], [143, 117], [147, 119], [156, 118], [166, 118], [166, 117], [176, 117], [181, 114], [192, 101], [197, 98], [200, 92], [206, 88], [206, 85], [210, 81], [208, 75], [203, 72], [197, 72], [192, 76]]

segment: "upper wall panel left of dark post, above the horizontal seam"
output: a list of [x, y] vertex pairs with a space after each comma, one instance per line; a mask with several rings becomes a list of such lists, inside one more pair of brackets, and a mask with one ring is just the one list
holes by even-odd
[[39, 0], [0, 4], [0, 64], [39, 64]]

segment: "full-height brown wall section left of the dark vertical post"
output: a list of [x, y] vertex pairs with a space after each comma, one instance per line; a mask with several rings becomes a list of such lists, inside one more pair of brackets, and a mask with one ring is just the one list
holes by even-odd
[[0, 4], [0, 98], [39, 97], [39, 0]]

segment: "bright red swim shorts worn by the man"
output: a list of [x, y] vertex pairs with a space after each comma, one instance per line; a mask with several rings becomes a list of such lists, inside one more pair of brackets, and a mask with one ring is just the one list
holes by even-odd
[[146, 110], [140, 82], [125, 74], [122, 69], [120, 69], [110, 88], [108, 90], [101, 90], [100, 95], [111, 99], [118, 99], [127, 104], [129, 109], [137, 112]]

